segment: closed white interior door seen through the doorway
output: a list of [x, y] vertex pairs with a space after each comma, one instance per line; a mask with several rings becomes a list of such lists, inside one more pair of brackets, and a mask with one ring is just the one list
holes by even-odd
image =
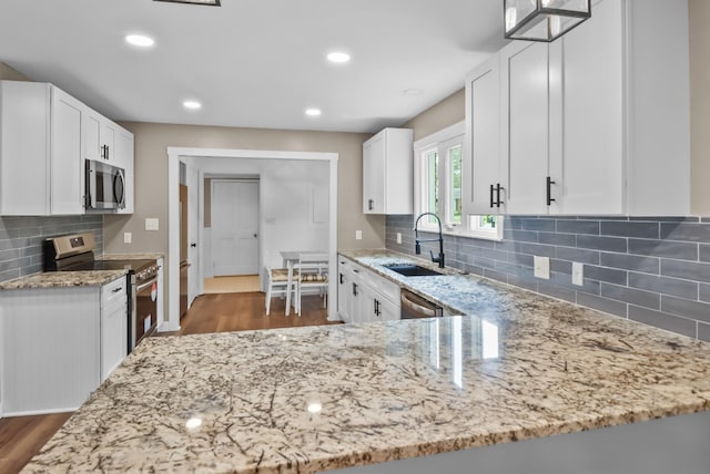
[[258, 274], [258, 182], [212, 182], [214, 276]]

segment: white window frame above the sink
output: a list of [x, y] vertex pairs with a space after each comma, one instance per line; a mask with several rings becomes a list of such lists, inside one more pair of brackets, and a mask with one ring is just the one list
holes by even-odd
[[[466, 176], [463, 171], [466, 159], [465, 148], [466, 123], [459, 122], [444, 130], [435, 132], [414, 143], [414, 212], [415, 216], [428, 212], [428, 156], [432, 152], [438, 155], [438, 200], [437, 216], [442, 217], [442, 231], [446, 235], [455, 235], [462, 237], [473, 237], [486, 240], [503, 240], [504, 216], [496, 216], [496, 230], [489, 230], [479, 227], [477, 223], [478, 215], [467, 215], [465, 206], [462, 203], [462, 223], [453, 223], [453, 187], [452, 187], [452, 159], [450, 150], [460, 147], [462, 158], [462, 198], [471, 187], [470, 176]], [[425, 182], [426, 179], [426, 182]], [[438, 233], [438, 224], [434, 219], [422, 219], [419, 221], [419, 230]]]

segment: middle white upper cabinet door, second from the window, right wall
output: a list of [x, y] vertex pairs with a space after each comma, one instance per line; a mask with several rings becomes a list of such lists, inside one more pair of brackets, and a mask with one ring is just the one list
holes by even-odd
[[506, 212], [547, 214], [549, 75], [545, 43], [514, 42], [500, 51], [504, 127], [508, 166]]

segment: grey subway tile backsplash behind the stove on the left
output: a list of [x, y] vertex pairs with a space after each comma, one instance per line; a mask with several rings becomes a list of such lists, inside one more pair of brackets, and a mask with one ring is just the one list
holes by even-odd
[[102, 254], [101, 215], [51, 217], [0, 216], [0, 281], [42, 271], [42, 240], [65, 234], [92, 231], [97, 254]]

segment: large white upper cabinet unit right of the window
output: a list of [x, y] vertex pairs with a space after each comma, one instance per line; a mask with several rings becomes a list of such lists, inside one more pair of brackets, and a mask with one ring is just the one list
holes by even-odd
[[[513, 42], [474, 70], [466, 214], [687, 215], [687, 13], [684, 1], [669, 11], [660, 0], [604, 0], [561, 39]], [[496, 74], [498, 110], [477, 94], [495, 93]], [[500, 124], [499, 153], [486, 115]], [[504, 204], [496, 194], [486, 206], [485, 186], [498, 182]]]

